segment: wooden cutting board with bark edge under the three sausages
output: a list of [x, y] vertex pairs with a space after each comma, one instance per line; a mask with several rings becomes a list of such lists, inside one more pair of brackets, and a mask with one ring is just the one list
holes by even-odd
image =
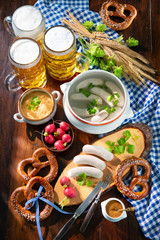
[[[133, 138], [130, 138], [128, 140], [128, 143], [133, 144], [135, 146], [134, 154], [129, 154], [129, 153], [127, 153], [127, 151], [125, 151], [124, 154], [114, 155], [114, 158], [112, 161], [110, 161], [110, 162], [105, 161], [106, 168], [103, 170], [103, 173], [104, 173], [103, 177], [107, 174], [108, 171], [114, 172], [117, 165], [124, 159], [130, 158], [132, 156], [145, 158], [150, 151], [150, 148], [152, 146], [153, 133], [152, 133], [152, 129], [148, 125], [143, 124], [143, 123], [124, 125], [124, 126], [118, 128], [117, 130], [112, 131], [107, 136], [97, 140], [96, 142], [93, 143], [93, 145], [98, 145], [98, 146], [106, 148], [106, 146], [107, 146], [106, 142], [108, 140], [110, 140], [112, 142], [117, 142], [117, 140], [119, 140], [123, 136], [123, 132], [126, 130], [130, 131], [131, 136], [138, 136], [138, 138], [136, 138], [136, 140], [134, 140]], [[84, 153], [81, 152], [79, 154], [81, 155]], [[65, 195], [63, 194], [63, 187], [60, 184], [61, 177], [68, 176], [69, 169], [77, 167], [77, 166], [78, 165], [75, 164], [72, 160], [66, 166], [66, 168], [63, 170], [62, 174], [60, 175], [59, 179], [57, 180], [55, 188], [54, 188], [56, 203], [59, 204], [65, 198]], [[128, 169], [128, 171], [129, 171], [129, 169]], [[77, 184], [76, 179], [70, 178], [71, 179], [71, 187], [74, 187], [76, 189], [77, 195], [74, 199], [68, 199], [66, 202], [66, 205], [68, 205], [68, 206], [75, 205], [75, 204], [79, 204], [82, 201], [84, 201], [86, 199], [86, 197], [91, 193], [91, 191], [93, 190], [95, 185], [99, 181], [103, 180], [103, 177], [101, 179], [90, 178], [90, 180], [92, 180], [94, 183], [92, 187], [80, 186]], [[113, 186], [114, 186], [114, 180], [112, 178], [109, 186], [106, 189], [109, 189]]]

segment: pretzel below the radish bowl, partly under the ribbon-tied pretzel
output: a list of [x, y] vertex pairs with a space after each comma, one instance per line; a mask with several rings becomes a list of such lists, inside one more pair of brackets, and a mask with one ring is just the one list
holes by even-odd
[[[46, 156], [48, 161], [41, 162], [40, 157]], [[27, 165], [32, 165], [33, 169], [25, 172], [25, 167]], [[50, 166], [49, 173], [44, 177], [48, 182], [52, 182], [58, 174], [58, 164], [53, 153], [51, 153], [47, 148], [39, 148], [34, 153], [32, 158], [22, 160], [17, 167], [17, 171], [26, 184], [32, 177], [34, 177], [42, 168]]]

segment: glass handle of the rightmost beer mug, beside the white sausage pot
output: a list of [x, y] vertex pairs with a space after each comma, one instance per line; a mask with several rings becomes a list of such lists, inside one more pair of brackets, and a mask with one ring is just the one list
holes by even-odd
[[89, 62], [89, 58], [86, 57], [84, 54], [82, 53], [78, 53], [76, 54], [76, 67], [74, 72], [75, 73], [82, 73], [84, 71], [87, 71], [89, 68], [90, 62]]

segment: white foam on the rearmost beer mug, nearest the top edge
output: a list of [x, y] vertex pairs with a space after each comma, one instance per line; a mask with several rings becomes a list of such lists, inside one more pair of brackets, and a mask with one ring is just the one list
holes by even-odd
[[42, 15], [33, 6], [23, 6], [18, 8], [13, 15], [13, 22], [21, 30], [29, 31], [37, 28], [42, 21]]

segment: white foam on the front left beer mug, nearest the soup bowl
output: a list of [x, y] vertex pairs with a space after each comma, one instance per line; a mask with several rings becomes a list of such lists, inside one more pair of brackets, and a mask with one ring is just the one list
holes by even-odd
[[11, 58], [20, 64], [32, 63], [39, 56], [39, 46], [29, 39], [18, 39], [10, 49]]

